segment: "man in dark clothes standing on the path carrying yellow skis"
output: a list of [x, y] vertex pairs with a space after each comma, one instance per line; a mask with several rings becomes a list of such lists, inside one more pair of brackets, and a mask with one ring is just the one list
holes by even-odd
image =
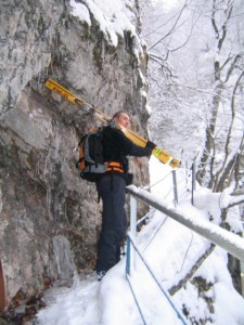
[[98, 243], [97, 274], [102, 280], [106, 271], [120, 260], [127, 219], [125, 213], [126, 180], [128, 174], [128, 158], [126, 156], [151, 156], [156, 146], [149, 141], [140, 147], [132, 143], [120, 130], [128, 128], [129, 115], [117, 112], [113, 117], [114, 126], [105, 127], [103, 131], [103, 158], [110, 162], [107, 171], [97, 182], [97, 190], [103, 200], [102, 230]]

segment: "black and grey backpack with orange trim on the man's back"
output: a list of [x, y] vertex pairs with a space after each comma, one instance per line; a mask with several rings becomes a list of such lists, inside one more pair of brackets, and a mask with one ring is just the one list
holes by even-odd
[[108, 167], [108, 164], [103, 161], [102, 139], [103, 128], [94, 128], [81, 138], [78, 145], [79, 160], [76, 167], [81, 179], [89, 182], [95, 182]]

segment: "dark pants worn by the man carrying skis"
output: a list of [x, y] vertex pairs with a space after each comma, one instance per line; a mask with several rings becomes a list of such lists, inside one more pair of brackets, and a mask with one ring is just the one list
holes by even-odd
[[126, 180], [119, 174], [105, 174], [98, 181], [97, 190], [103, 200], [97, 271], [107, 271], [120, 260], [120, 247], [127, 229]]

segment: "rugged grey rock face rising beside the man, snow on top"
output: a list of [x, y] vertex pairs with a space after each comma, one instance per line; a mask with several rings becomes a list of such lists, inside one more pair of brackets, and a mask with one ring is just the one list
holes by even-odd
[[[75, 162], [78, 139], [98, 122], [51, 94], [46, 79], [108, 115], [128, 110], [146, 134], [146, 54], [136, 31], [104, 30], [99, 11], [73, 2], [1, 1], [0, 262], [9, 301], [70, 284], [95, 260], [101, 205]], [[131, 164], [139, 185], [147, 182], [145, 161]]]

